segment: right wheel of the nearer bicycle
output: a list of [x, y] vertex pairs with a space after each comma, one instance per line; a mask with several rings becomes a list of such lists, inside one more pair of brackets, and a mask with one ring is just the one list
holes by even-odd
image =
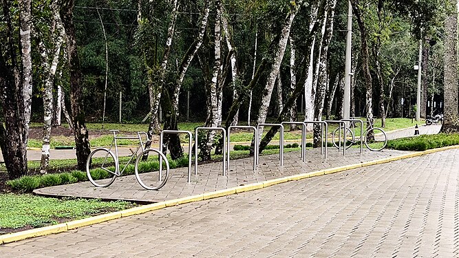
[[[146, 164], [145, 166], [140, 167], [139, 164], [142, 161], [143, 155], [153, 151], [154, 153], [160, 155], [162, 160], [166, 163], [166, 171], [162, 171], [160, 175], [159, 171], [153, 171], [153, 168]], [[161, 151], [157, 149], [146, 149], [142, 155], [138, 155], [136, 159], [136, 165], [134, 166], [134, 170], [136, 171], [136, 179], [138, 183], [147, 190], [159, 190], [166, 184], [167, 179], [169, 178], [169, 162], [167, 161], [166, 155], [164, 155]], [[157, 178], [158, 177], [158, 178]], [[157, 180], [154, 180], [157, 178]], [[156, 183], [155, 183], [156, 181]]]

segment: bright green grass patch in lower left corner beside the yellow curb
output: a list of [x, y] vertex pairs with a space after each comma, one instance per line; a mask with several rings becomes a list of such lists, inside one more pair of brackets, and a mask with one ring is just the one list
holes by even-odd
[[62, 220], [82, 219], [98, 213], [131, 208], [129, 202], [99, 200], [58, 200], [34, 195], [0, 195], [0, 234], [2, 228], [34, 228], [58, 224]]

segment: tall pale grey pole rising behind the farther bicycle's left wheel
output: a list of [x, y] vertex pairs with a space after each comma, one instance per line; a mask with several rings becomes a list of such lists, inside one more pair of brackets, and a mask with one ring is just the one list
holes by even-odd
[[348, 36], [346, 38], [346, 60], [345, 60], [345, 81], [344, 81], [344, 96], [343, 96], [343, 118], [350, 117], [351, 104], [351, 61], [352, 61], [352, 6], [348, 2]]

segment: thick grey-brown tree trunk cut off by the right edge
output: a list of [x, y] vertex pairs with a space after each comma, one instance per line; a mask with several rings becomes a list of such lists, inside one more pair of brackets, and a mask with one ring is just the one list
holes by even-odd
[[450, 0], [453, 12], [445, 21], [445, 120], [442, 133], [459, 132], [458, 114], [458, 10], [457, 0]]

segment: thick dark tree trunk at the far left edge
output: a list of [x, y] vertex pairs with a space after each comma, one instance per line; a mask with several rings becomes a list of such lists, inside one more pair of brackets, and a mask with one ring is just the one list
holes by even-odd
[[[5, 160], [6, 169], [10, 179], [19, 178], [28, 172], [27, 165], [27, 137], [28, 120], [25, 113], [30, 102], [25, 101], [24, 94], [29, 94], [27, 88], [29, 83], [32, 83], [32, 74], [28, 74], [30, 78], [24, 81], [25, 74], [23, 73], [22, 64], [28, 62], [28, 58], [23, 58], [23, 54], [30, 55], [30, 30], [24, 32], [21, 27], [20, 31], [14, 30], [14, 21], [12, 21], [10, 1], [2, 0], [3, 19], [6, 23], [5, 42], [0, 44], [0, 89], [1, 89], [1, 107], [3, 109], [3, 119], [5, 127], [0, 123], [0, 147]], [[30, 21], [30, 2], [19, 6], [21, 8], [20, 16], [28, 16]], [[23, 8], [28, 10], [23, 10]], [[23, 23], [21, 24], [23, 25]], [[30, 26], [30, 24], [29, 24]], [[27, 30], [27, 29], [25, 29]], [[29, 34], [28, 40], [26, 35], [21, 35], [21, 32]], [[16, 44], [16, 39], [21, 39], [21, 50]], [[19, 53], [19, 56], [18, 56]], [[18, 58], [19, 57], [19, 58]], [[19, 62], [18, 62], [19, 61]], [[25, 65], [27, 66], [27, 65]], [[21, 76], [24, 74], [24, 76]], [[30, 113], [29, 113], [30, 114]]]

